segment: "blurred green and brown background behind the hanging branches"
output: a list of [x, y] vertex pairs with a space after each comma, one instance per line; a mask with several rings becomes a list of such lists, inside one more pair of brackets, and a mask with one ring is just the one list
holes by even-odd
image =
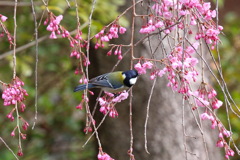
[[[77, 27], [76, 11], [73, 1], [69, 1], [72, 7], [68, 7], [66, 1], [51, 0], [49, 9], [55, 14], [64, 16], [61, 24], [69, 31]], [[36, 3], [36, 16], [42, 23], [38, 28], [39, 38], [49, 35], [43, 21], [46, 14], [42, 14], [44, 6], [41, 1]], [[213, 2], [215, 3], [215, 2]], [[28, 0], [19, 2], [17, 9], [17, 48], [34, 41], [34, 22], [31, 4]], [[101, 0], [96, 4], [96, 10], [92, 21], [92, 35], [99, 32], [102, 27], [114, 20], [124, 6], [124, 0]], [[5, 22], [10, 33], [13, 33], [13, 8], [14, 1], [0, 1], [0, 14], [8, 17]], [[213, 8], [213, 7], [212, 7]], [[90, 0], [81, 0], [79, 3], [79, 16], [81, 24], [88, 21], [91, 9]], [[107, 16], [106, 16], [107, 15]], [[219, 0], [219, 24], [224, 27], [221, 36], [222, 44], [219, 45], [223, 75], [228, 88], [237, 105], [240, 104], [240, 10], [234, 0]], [[121, 18], [121, 25], [129, 27], [127, 17]], [[83, 29], [83, 37], [86, 38], [87, 28]], [[9, 48], [6, 38], [0, 38], [0, 57], [5, 55]], [[83, 129], [85, 127], [85, 114], [75, 109], [81, 100], [80, 93], [73, 93], [73, 88], [78, 84], [79, 76], [74, 75], [78, 61], [69, 57], [71, 48], [66, 39], [48, 39], [39, 43], [38, 63], [38, 120], [34, 130], [31, 130], [35, 108], [35, 46], [28, 47], [17, 53], [17, 76], [25, 82], [24, 88], [29, 96], [26, 99], [26, 111], [21, 115], [30, 123], [27, 131], [27, 139], [23, 140], [23, 159], [26, 160], [91, 160], [96, 159], [98, 152], [94, 138], [82, 148], [87, 140]], [[94, 62], [98, 63], [98, 62]], [[110, 69], [109, 69], [110, 70]], [[108, 70], [108, 71], [109, 71]], [[107, 71], [106, 71], [107, 72]], [[12, 56], [0, 58], [0, 80], [10, 83], [12, 79]], [[217, 85], [216, 85], [217, 87]], [[219, 89], [219, 88], [218, 88]], [[219, 89], [220, 90], [220, 89]], [[0, 92], [2, 88], [0, 86]], [[223, 96], [219, 95], [224, 101]], [[3, 104], [0, 99], [0, 104]], [[0, 105], [0, 131], [1, 137], [9, 146], [17, 152], [17, 137], [11, 137], [10, 133], [15, 127], [15, 122], [10, 122], [6, 115], [11, 111], [11, 106]], [[223, 112], [223, 113], [221, 113]], [[219, 111], [224, 121], [225, 110]], [[240, 133], [239, 119], [231, 116], [233, 131]], [[227, 121], [224, 121], [227, 124]], [[239, 146], [238, 135], [235, 140]], [[235, 157], [232, 159], [239, 159]], [[14, 159], [9, 150], [0, 142], [0, 159]]]

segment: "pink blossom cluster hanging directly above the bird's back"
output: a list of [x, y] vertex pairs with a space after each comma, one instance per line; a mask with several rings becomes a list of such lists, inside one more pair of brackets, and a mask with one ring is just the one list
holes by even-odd
[[113, 38], [118, 38], [118, 34], [124, 34], [126, 32], [126, 28], [118, 25], [118, 24], [113, 24], [109, 28], [108, 31], [106, 29], [102, 29], [99, 33], [95, 35], [95, 38], [97, 39], [97, 43], [95, 45], [95, 49], [98, 47], [104, 47], [103, 42], [109, 42]]

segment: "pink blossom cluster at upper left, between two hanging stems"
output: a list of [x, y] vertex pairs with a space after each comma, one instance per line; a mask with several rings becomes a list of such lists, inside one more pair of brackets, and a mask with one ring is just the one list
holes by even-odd
[[60, 22], [62, 21], [63, 16], [54, 16], [52, 12], [49, 13], [49, 17], [44, 21], [44, 25], [47, 26], [47, 30], [51, 32], [49, 38], [57, 39], [56, 33], [58, 35], [62, 34], [63, 38], [66, 38], [70, 35], [70, 33], [60, 26]]

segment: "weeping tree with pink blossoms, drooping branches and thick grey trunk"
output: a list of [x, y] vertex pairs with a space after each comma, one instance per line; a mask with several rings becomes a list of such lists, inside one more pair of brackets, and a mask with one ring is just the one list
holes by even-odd
[[[223, 79], [220, 57], [213, 55], [213, 51], [218, 53], [223, 30], [218, 25], [218, 7], [202, 0], [126, 1], [116, 19], [93, 33], [97, 0], [89, 7], [87, 30], [80, 23], [81, 1], [66, 1], [66, 5], [76, 8], [74, 32], [61, 25], [63, 15], [55, 15], [47, 2], [42, 3], [45, 16], [38, 21], [35, 4], [31, 2], [36, 53], [40, 42], [38, 25], [45, 25], [50, 39], [69, 41], [69, 55], [78, 64], [73, 74], [80, 77], [80, 83], [87, 84], [89, 78], [115, 70], [135, 69], [140, 75], [135, 86], [118, 95], [97, 95], [90, 90], [82, 93], [76, 109], [86, 114], [84, 132], [89, 139], [84, 146], [96, 138], [96, 159], [229, 159], [236, 155], [238, 148], [230, 120], [229, 126], [224, 126], [217, 114], [224, 105], [226, 115], [232, 112], [239, 117], [239, 108], [232, 105], [235, 103]], [[24, 130], [29, 127], [24, 119], [28, 94], [24, 82], [16, 76], [17, 4], [16, 1], [13, 33], [5, 25], [9, 17], [0, 15], [1, 38], [7, 39], [13, 50], [12, 81], [0, 82], [3, 105], [12, 107], [7, 115], [15, 123], [10, 135], [17, 135], [17, 155], [23, 156], [21, 141], [26, 139]], [[123, 18], [129, 26], [121, 24]], [[37, 62], [36, 54], [36, 66]], [[35, 74], [37, 79], [37, 67]], [[212, 86], [212, 78], [221, 93]], [[218, 94], [224, 96], [224, 103], [217, 98]], [[37, 122], [37, 107], [35, 113]]]

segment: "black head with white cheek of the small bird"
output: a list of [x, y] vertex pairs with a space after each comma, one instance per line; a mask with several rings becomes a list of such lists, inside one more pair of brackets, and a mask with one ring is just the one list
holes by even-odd
[[129, 70], [122, 73], [124, 85], [131, 87], [137, 82], [138, 73], [136, 70]]

